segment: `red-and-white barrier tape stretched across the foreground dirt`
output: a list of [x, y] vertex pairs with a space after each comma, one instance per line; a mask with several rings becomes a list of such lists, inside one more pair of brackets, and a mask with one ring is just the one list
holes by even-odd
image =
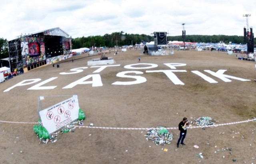
[[[230, 123], [224, 123], [224, 124], [213, 124], [213, 125], [205, 125], [205, 126], [189, 126], [188, 129], [192, 128], [206, 128], [206, 127], [218, 127], [218, 126], [225, 126], [225, 125], [232, 125], [232, 124], [242, 124], [246, 122], [252, 122], [256, 121], [256, 118], [251, 120], [244, 120], [244, 121], [238, 121], [238, 122], [230, 122]], [[4, 123], [12, 123], [12, 124], [38, 124], [38, 122], [13, 122], [13, 121], [2, 121], [0, 122]], [[113, 130], [148, 130], [148, 129], [158, 129], [158, 128], [116, 128], [116, 127], [100, 127], [100, 126], [80, 126], [80, 125], [68, 125], [72, 127], [79, 127], [79, 128], [94, 128], [94, 129], [113, 129]], [[178, 129], [177, 127], [171, 127], [166, 129]]]

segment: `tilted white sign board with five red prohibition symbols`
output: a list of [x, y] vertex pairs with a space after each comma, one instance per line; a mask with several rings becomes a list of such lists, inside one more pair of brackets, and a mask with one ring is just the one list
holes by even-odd
[[49, 134], [77, 120], [78, 114], [79, 105], [77, 95], [39, 112], [42, 124]]

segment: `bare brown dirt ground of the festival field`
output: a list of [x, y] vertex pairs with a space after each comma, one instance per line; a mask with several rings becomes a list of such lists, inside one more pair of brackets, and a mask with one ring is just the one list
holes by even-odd
[[[124, 66], [142, 63], [157, 64], [156, 68], [126, 69]], [[60, 63], [60, 68], [52, 64], [36, 68], [0, 84], [0, 121], [37, 122], [38, 96], [77, 94], [80, 108], [86, 114], [85, 126], [93, 123], [97, 127], [151, 128], [177, 127], [183, 117], [194, 120], [209, 116], [224, 124], [248, 120], [256, 117], [256, 70], [255, 62], [238, 60], [236, 54], [209, 51], [175, 51], [174, 55], [150, 56], [140, 54], [140, 50], [128, 50], [107, 54], [113, 57], [115, 65], [99, 73], [87, 61], [100, 56], [82, 54]], [[68, 61], [68, 62], [67, 62]], [[162, 72], [147, 70], [171, 70], [164, 63], [183, 63], [174, 72], [184, 85], [176, 85]], [[88, 67], [78, 74], [61, 75], [72, 68]], [[191, 71], [199, 71], [214, 79], [209, 83]], [[220, 78], [205, 72], [226, 70], [224, 74], [251, 81]], [[120, 78], [116, 74], [123, 71], [141, 71], [146, 82], [134, 85], [112, 85], [120, 81], [134, 81]], [[100, 74], [103, 86], [80, 84], [70, 89], [62, 89], [68, 84], [90, 74]], [[8, 92], [4, 90], [22, 80], [40, 78], [47, 80], [58, 77], [43, 86], [57, 86], [50, 90], [27, 90], [37, 83], [17, 86]], [[90, 81], [92, 79], [88, 79]], [[214, 128], [188, 129], [185, 146], [176, 147], [179, 131], [173, 134], [171, 144], [156, 145], [147, 141], [145, 130], [111, 130], [76, 128], [74, 133], [58, 136], [57, 142], [41, 143], [33, 131], [34, 124], [0, 122], [0, 163], [2, 164], [194, 164], [194, 163], [256, 163], [256, 122], [230, 124]], [[196, 126], [196, 125], [194, 125]], [[199, 148], [194, 148], [198, 145]], [[166, 148], [168, 151], [164, 151]], [[232, 148], [230, 150], [224, 150]], [[196, 155], [202, 153], [204, 158]], [[232, 154], [230, 154], [232, 152]], [[236, 162], [233, 162], [233, 159]]]

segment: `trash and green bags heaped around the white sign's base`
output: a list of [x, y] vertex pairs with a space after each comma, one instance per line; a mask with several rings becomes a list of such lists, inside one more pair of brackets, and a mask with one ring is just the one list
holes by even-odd
[[83, 125], [82, 121], [85, 118], [86, 118], [86, 116], [85, 116], [84, 112], [81, 109], [79, 109], [78, 121], [71, 122], [70, 124], [67, 124], [62, 129], [60, 129], [58, 132], [54, 132], [52, 134], [48, 133], [46, 128], [44, 126], [42, 126], [42, 122], [39, 119], [38, 125], [34, 125], [34, 132], [36, 133], [36, 136], [39, 138], [40, 143], [43, 142], [43, 143], [47, 144], [48, 142], [52, 142], [52, 144], [53, 144], [54, 142], [57, 141], [57, 136], [59, 133], [63, 134], [63, 133], [67, 133], [67, 132], [74, 132], [74, 129], [76, 128], [76, 126], [74, 126], [74, 124]]

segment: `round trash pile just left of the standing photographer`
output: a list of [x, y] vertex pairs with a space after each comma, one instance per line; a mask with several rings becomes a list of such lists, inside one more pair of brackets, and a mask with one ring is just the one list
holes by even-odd
[[165, 127], [158, 126], [147, 130], [146, 140], [151, 140], [156, 145], [170, 144], [172, 141], [172, 133], [168, 132]]

